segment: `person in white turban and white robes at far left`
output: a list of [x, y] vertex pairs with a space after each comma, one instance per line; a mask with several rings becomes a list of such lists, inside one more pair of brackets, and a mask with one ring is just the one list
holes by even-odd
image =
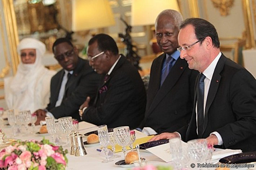
[[17, 47], [21, 63], [14, 77], [4, 79], [5, 101], [9, 109], [35, 110], [49, 102], [50, 80], [56, 73], [41, 63], [45, 45], [34, 38], [24, 38]]

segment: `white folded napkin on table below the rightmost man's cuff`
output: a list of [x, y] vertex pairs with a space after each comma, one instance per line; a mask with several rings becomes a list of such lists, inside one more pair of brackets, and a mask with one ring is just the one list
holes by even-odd
[[219, 162], [221, 158], [224, 158], [226, 156], [234, 155], [237, 153], [241, 153], [242, 150], [231, 150], [231, 149], [219, 149], [217, 148], [216, 151], [213, 151], [212, 153], [212, 160], [211, 163]]

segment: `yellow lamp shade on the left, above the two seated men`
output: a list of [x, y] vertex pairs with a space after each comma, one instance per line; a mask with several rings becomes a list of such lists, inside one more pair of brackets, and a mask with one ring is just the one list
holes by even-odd
[[72, 31], [103, 28], [115, 24], [108, 0], [72, 0]]

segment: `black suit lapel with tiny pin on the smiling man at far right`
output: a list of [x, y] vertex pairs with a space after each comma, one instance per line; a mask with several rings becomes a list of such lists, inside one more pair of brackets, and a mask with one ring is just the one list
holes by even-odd
[[207, 100], [206, 100], [206, 107], [205, 107], [205, 111], [204, 111], [203, 133], [206, 130], [206, 127], [207, 127], [208, 111], [209, 111], [209, 108], [210, 108], [210, 106], [211, 106], [211, 104], [212, 104], [212, 102], [215, 98], [215, 95], [217, 93], [217, 90], [218, 90], [218, 87], [219, 87], [219, 84], [220, 84], [220, 79], [221, 79], [220, 72], [222, 71], [222, 69], [224, 67], [225, 61], [226, 61], [226, 58], [222, 54], [218, 63], [217, 63], [217, 65], [216, 65], [216, 67], [215, 67], [213, 75], [212, 75], [212, 80], [211, 80], [211, 84], [210, 84], [210, 87], [209, 87], [208, 96], [207, 96]]

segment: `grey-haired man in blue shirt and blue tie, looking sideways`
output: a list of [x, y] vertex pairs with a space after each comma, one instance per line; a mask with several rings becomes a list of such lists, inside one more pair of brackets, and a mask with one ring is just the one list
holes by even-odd
[[182, 20], [181, 14], [171, 9], [156, 18], [156, 40], [164, 53], [151, 66], [145, 118], [140, 125], [146, 134], [175, 132], [191, 118], [198, 72], [179, 58], [177, 36]]

